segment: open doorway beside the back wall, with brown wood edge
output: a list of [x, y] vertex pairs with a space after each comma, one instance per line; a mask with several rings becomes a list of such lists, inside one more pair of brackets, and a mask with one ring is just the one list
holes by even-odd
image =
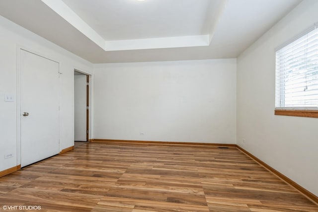
[[74, 70], [74, 141], [88, 141], [89, 75]]

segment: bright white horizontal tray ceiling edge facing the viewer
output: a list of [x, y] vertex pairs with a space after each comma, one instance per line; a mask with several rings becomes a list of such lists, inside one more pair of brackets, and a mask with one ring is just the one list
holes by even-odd
[[105, 51], [209, 46], [209, 35], [106, 41]]

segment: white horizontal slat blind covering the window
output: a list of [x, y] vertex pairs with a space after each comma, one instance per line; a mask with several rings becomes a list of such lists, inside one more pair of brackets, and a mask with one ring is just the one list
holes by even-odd
[[318, 110], [318, 28], [276, 51], [276, 109]]

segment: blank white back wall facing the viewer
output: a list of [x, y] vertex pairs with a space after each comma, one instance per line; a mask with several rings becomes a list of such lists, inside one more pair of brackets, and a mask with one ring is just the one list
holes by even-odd
[[94, 74], [94, 139], [236, 143], [236, 59], [103, 64]]

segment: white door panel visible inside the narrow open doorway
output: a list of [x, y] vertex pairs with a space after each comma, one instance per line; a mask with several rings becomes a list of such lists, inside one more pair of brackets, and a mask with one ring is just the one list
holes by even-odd
[[86, 141], [86, 75], [74, 75], [74, 141]]

